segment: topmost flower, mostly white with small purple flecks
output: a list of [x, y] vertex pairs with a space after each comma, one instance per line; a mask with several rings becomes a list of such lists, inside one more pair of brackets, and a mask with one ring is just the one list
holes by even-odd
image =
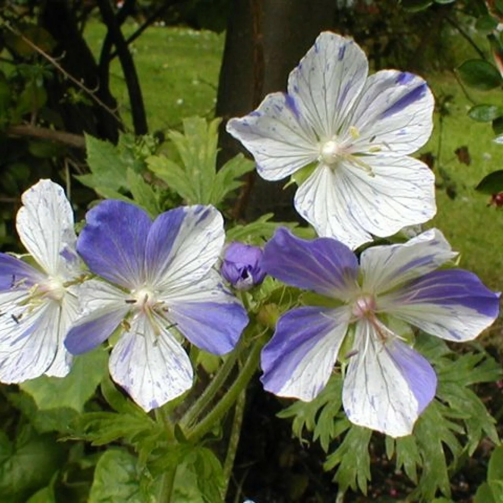
[[434, 175], [410, 154], [428, 140], [434, 100], [416, 75], [383, 70], [353, 40], [319, 35], [290, 73], [288, 93], [268, 95], [227, 131], [266, 180], [311, 165], [297, 211], [321, 236], [351, 248], [435, 215]]

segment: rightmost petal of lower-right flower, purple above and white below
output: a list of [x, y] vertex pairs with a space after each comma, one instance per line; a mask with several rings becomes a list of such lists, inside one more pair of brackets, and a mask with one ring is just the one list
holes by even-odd
[[499, 294], [468, 271], [433, 271], [379, 298], [378, 308], [434, 336], [469, 341], [499, 312]]

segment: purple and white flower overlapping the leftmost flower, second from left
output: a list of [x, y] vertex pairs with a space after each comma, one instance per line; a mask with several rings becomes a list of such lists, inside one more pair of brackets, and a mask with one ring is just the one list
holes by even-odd
[[82, 313], [67, 349], [90, 351], [119, 328], [112, 378], [147, 411], [184, 393], [193, 369], [182, 336], [223, 355], [248, 322], [213, 269], [224, 239], [222, 215], [213, 206], [176, 208], [153, 222], [122, 201], [90, 210], [77, 251], [112, 284], [90, 280], [81, 287]]

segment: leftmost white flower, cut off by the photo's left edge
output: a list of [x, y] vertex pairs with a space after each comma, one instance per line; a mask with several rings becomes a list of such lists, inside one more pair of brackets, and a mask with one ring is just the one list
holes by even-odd
[[68, 374], [63, 340], [77, 314], [73, 212], [63, 189], [41, 180], [22, 196], [21, 242], [38, 267], [0, 253], [0, 381], [19, 383]]

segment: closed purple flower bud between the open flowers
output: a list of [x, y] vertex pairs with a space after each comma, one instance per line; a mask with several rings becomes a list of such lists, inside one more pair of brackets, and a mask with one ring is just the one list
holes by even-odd
[[248, 290], [264, 281], [266, 272], [262, 269], [263, 251], [258, 246], [239, 242], [230, 243], [220, 267], [222, 276], [238, 290]]

